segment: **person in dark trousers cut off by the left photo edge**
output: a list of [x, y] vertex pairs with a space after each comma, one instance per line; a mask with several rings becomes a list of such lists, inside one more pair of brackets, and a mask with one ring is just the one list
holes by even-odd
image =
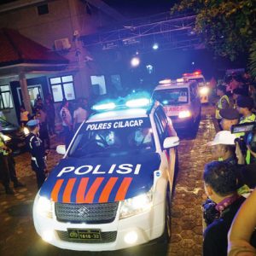
[[9, 187], [9, 181], [14, 183], [15, 188], [24, 187], [24, 184], [18, 181], [12, 150], [5, 144], [1, 131], [2, 126], [0, 125], [0, 175], [6, 194], [13, 195], [14, 191]]

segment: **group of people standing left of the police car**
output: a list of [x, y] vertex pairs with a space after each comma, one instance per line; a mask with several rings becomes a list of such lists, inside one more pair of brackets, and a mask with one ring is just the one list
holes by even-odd
[[[73, 132], [79, 129], [79, 125], [88, 118], [90, 110], [87, 99], [80, 98], [70, 108], [69, 102], [63, 99], [59, 118], [61, 119], [61, 137], [68, 147]], [[32, 171], [36, 173], [38, 189], [44, 183], [47, 176], [46, 155], [49, 153], [49, 137], [55, 136], [55, 105], [52, 95], [45, 97], [43, 102], [40, 96], [37, 97], [30, 114], [24, 106], [20, 106], [20, 126], [26, 126], [30, 133], [26, 136], [26, 148], [32, 155]], [[6, 194], [14, 195], [14, 190], [10, 187], [10, 182], [14, 183], [14, 188], [24, 187], [16, 176], [15, 159], [11, 148], [5, 143], [1, 133], [0, 125], [0, 177]]]

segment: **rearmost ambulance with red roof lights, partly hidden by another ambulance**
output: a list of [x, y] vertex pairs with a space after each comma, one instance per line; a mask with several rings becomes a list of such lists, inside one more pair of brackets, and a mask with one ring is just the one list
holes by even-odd
[[200, 70], [195, 71], [194, 73], [183, 73], [183, 79], [185, 79], [187, 81], [195, 80], [199, 87], [201, 103], [209, 102], [209, 95], [211, 92], [210, 87], [207, 86], [207, 82]]

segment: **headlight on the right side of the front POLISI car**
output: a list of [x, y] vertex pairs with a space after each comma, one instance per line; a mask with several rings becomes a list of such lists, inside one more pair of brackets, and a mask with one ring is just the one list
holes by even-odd
[[127, 218], [146, 212], [152, 207], [153, 192], [150, 189], [147, 193], [137, 195], [121, 202], [119, 218]]

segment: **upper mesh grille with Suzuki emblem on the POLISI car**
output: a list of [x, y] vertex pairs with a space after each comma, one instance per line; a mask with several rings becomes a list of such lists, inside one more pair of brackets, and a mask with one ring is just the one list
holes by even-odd
[[55, 203], [55, 214], [60, 222], [104, 224], [113, 222], [119, 203], [65, 204]]

